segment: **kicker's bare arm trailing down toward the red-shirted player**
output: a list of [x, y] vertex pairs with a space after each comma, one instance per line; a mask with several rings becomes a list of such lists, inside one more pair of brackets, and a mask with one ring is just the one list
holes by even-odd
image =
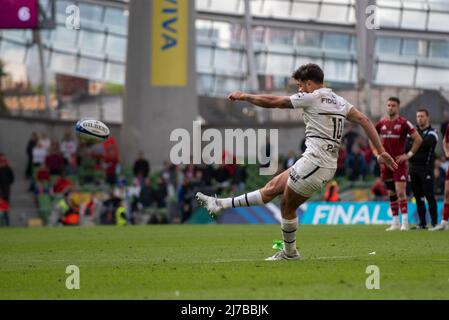
[[366, 135], [368, 136], [372, 146], [377, 151], [377, 160], [379, 163], [386, 165], [391, 170], [396, 170], [398, 168], [397, 163], [394, 159], [385, 151], [382, 146], [382, 142], [380, 141], [379, 134], [376, 131], [373, 123], [368, 119], [366, 115], [362, 112], [358, 111], [356, 108], [352, 108], [349, 113], [347, 119], [351, 122], [359, 124]]

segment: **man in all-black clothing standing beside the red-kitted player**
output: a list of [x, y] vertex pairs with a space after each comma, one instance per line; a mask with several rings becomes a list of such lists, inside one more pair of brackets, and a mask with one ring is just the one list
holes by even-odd
[[438, 143], [438, 133], [430, 126], [429, 112], [426, 109], [416, 111], [416, 123], [418, 133], [423, 139], [416, 154], [408, 161], [410, 165], [409, 181], [416, 199], [419, 224], [417, 229], [427, 229], [426, 204], [429, 204], [429, 212], [432, 226], [437, 225], [437, 200], [434, 193], [434, 167], [435, 147]]

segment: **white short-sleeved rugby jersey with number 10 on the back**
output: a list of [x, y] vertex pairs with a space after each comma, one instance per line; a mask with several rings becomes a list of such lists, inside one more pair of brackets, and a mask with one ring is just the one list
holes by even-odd
[[303, 157], [321, 168], [337, 168], [345, 120], [353, 105], [329, 88], [299, 92], [290, 100], [293, 107], [304, 109], [307, 149]]

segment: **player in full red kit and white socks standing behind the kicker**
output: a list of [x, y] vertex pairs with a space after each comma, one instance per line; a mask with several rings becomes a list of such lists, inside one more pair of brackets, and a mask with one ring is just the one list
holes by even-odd
[[[395, 159], [399, 166], [395, 171], [384, 165], [380, 166], [380, 176], [388, 189], [391, 212], [393, 213], [393, 224], [387, 231], [409, 230], [408, 200], [405, 192], [408, 177], [407, 160], [416, 154], [422, 143], [422, 138], [416, 132], [413, 124], [399, 115], [400, 103], [400, 100], [396, 97], [389, 98], [387, 115], [376, 124], [376, 130], [379, 133], [385, 151]], [[411, 139], [413, 139], [413, 145], [410, 151], [405, 154], [407, 135], [410, 135]], [[375, 155], [379, 153], [372, 144], [371, 148]], [[402, 213], [402, 226], [399, 226], [399, 208]]]

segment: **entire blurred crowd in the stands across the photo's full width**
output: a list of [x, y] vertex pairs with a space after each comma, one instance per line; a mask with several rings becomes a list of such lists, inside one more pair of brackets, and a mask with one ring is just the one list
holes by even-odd
[[[260, 152], [270, 155], [269, 140], [262, 149]], [[279, 169], [292, 166], [304, 151], [305, 141], [298, 152], [280, 156]], [[229, 164], [174, 165], [165, 161], [157, 171], [151, 170], [150, 161], [139, 152], [127, 168], [122, 166], [113, 136], [100, 144], [87, 144], [66, 132], [62, 139], [33, 133], [26, 154], [29, 191], [48, 225], [184, 223], [197, 208], [196, 192], [227, 196], [248, 191], [248, 166], [237, 165], [235, 156], [227, 152], [222, 154], [222, 162]], [[446, 159], [435, 162], [437, 196], [444, 192], [448, 166]], [[339, 151], [336, 180], [347, 180], [349, 185], [366, 182], [373, 199], [385, 200], [387, 190], [378, 176], [379, 166], [368, 140], [350, 126]], [[14, 173], [0, 154], [0, 217], [6, 224], [13, 182]], [[254, 187], [260, 186], [251, 185]], [[325, 199], [339, 201], [338, 190], [335, 180], [329, 182]]]

